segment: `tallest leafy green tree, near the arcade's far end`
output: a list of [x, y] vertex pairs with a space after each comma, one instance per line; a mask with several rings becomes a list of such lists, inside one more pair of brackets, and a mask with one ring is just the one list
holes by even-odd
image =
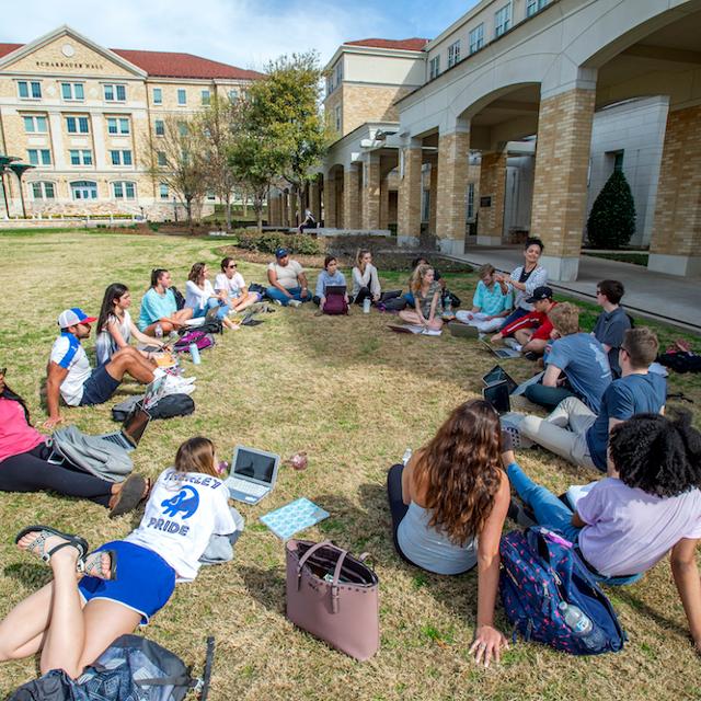
[[315, 179], [331, 131], [321, 114], [322, 71], [317, 51], [281, 56], [271, 62], [267, 77], [251, 87], [250, 95], [269, 131], [281, 163], [280, 175], [297, 194], [302, 212], [302, 191]]

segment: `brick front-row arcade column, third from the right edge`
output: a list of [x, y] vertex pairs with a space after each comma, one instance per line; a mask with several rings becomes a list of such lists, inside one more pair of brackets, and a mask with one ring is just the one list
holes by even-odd
[[436, 235], [444, 253], [464, 253], [468, 219], [468, 165], [470, 125], [458, 120], [438, 135], [438, 187]]

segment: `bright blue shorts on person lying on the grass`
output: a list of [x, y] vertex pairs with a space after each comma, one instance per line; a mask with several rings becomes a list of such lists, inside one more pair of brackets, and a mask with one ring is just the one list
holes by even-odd
[[117, 553], [117, 576], [104, 581], [83, 577], [78, 589], [85, 602], [106, 599], [141, 614], [141, 625], [160, 611], [175, 588], [175, 570], [158, 553], [136, 543], [114, 540], [97, 548]]

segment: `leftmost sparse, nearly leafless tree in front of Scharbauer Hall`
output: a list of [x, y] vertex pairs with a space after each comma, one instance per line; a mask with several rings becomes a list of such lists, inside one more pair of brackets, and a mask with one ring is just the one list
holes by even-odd
[[154, 183], [164, 183], [185, 207], [193, 226], [193, 205], [207, 192], [205, 149], [192, 119], [166, 116], [163, 134], [151, 137], [145, 148], [146, 166]]

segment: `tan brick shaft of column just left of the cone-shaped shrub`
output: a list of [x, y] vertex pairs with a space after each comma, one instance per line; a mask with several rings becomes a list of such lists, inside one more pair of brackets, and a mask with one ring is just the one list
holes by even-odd
[[579, 255], [595, 97], [576, 88], [540, 103], [530, 231], [549, 256]]

